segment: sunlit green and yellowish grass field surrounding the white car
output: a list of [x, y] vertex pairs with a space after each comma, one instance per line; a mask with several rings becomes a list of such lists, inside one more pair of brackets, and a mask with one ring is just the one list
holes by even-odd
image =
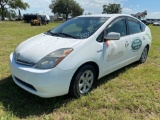
[[160, 119], [160, 27], [149, 26], [153, 41], [145, 64], [133, 63], [103, 77], [79, 99], [43, 99], [15, 85], [8, 67], [10, 53], [23, 40], [58, 24], [0, 22], [0, 120]]

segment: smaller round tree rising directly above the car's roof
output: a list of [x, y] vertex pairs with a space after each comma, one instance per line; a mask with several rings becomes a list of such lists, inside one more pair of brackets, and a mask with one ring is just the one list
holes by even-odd
[[122, 13], [122, 8], [120, 4], [109, 4], [109, 5], [103, 5], [103, 14], [114, 14], [114, 13]]

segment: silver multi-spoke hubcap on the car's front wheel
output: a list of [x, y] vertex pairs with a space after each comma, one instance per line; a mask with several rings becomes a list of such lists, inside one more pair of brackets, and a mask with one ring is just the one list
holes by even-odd
[[86, 70], [80, 77], [79, 80], [79, 91], [81, 94], [87, 93], [93, 84], [94, 75], [91, 70]]

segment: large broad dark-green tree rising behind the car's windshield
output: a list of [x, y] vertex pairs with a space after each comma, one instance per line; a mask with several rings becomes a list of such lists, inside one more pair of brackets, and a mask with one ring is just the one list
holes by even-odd
[[52, 9], [54, 14], [63, 14], [65, 20], [67, 20], [69, 15], [75, 17], [82, 15], [84, 11], [74, 0], [52, 0], [49, 8]]

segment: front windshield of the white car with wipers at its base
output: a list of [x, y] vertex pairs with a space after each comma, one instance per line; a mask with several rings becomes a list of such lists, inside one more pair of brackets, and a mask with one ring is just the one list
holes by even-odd
[[77, 17], [62, 23], [46, 34], [85, 39], [93, 35], [107, 20], [108, 17]]

